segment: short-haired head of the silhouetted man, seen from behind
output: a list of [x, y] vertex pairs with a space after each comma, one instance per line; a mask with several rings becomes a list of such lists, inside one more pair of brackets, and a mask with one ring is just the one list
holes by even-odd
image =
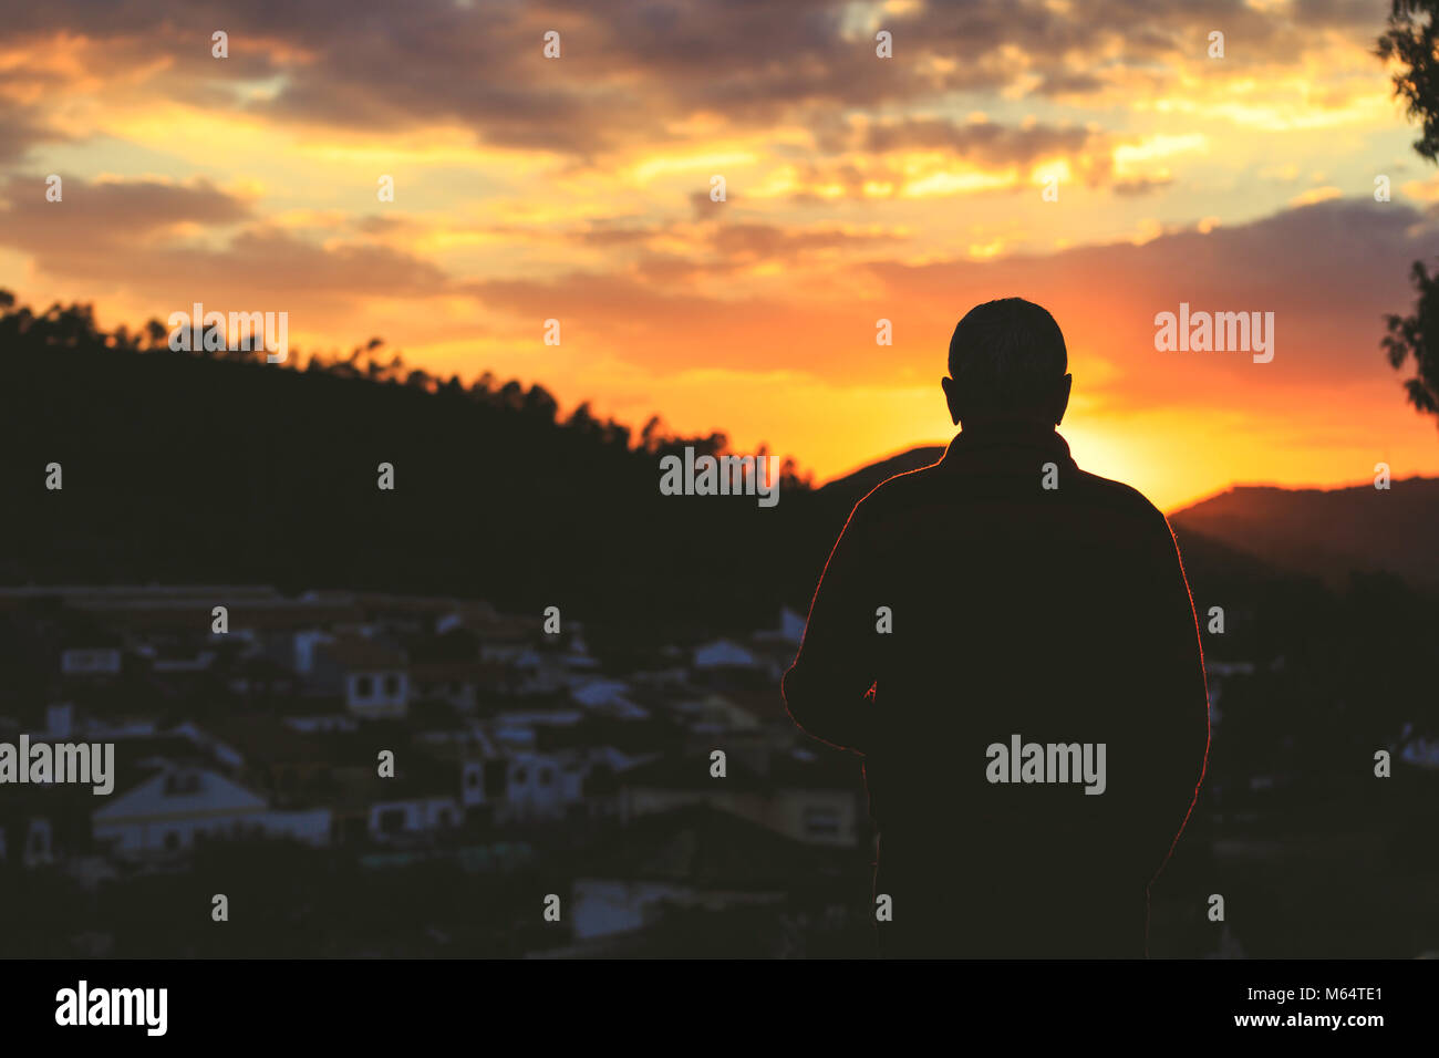
[[941, 380], [955, 423], [1025, 419], [1058, 426], [1069, 406], [1069, 354], [1059, 324], [1023, 298], [971, 308], [950, 338]]

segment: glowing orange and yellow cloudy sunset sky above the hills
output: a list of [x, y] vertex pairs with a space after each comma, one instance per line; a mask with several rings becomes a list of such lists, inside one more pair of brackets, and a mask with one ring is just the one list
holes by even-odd
[[[1379, 347], [1439, 250], [1439, 171], [1373, 56], [1387, 10], [12, 4], [0, 286], [106, 327], [285, 311], [304, 354], [381, 335], [820, 481], [947, 440], [955, 321], [1020, 295], [1065, 331], [1081, 466], [1166, 510], [1380, 461], [1433, 475], [1439, 430]], [[1156, 351], [1181, 301], [1274, 312], [1274, 361]]]

